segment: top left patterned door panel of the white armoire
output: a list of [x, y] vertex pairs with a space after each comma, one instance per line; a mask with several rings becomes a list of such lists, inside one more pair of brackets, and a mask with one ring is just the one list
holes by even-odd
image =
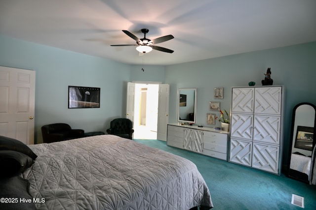
[[234, 88], [232, 93], [232, 112], [253, 113], [254, 89]]

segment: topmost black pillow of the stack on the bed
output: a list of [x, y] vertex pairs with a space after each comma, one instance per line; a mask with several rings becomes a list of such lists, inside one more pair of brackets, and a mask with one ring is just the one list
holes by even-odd
[[27, 145], [23, 144], [19, 140], [8, 138], [5, 136], [0, 136], [0, 150], [14, 150], [22, 152], [35, 160], [38, 155], [36, 155]]

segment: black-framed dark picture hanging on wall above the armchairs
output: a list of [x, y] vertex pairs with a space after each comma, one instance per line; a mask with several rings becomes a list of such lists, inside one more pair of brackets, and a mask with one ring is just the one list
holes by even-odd
[[68, 86], [68, 109], [100, 108], [100, 88]]

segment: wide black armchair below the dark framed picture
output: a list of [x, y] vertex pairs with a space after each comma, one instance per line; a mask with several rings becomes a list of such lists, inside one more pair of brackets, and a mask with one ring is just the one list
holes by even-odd
[[66, 123], [55, 123], [43, 125], [41, 127], [41, 134], [44, 143], [52, 143], [84, 137], [84, 130], [72, 129]]

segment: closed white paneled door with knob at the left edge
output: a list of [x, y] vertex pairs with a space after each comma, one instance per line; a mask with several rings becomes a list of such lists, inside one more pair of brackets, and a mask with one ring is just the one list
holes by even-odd
[[35, 71], [0, 66], [0, 135], [34, 144]]

